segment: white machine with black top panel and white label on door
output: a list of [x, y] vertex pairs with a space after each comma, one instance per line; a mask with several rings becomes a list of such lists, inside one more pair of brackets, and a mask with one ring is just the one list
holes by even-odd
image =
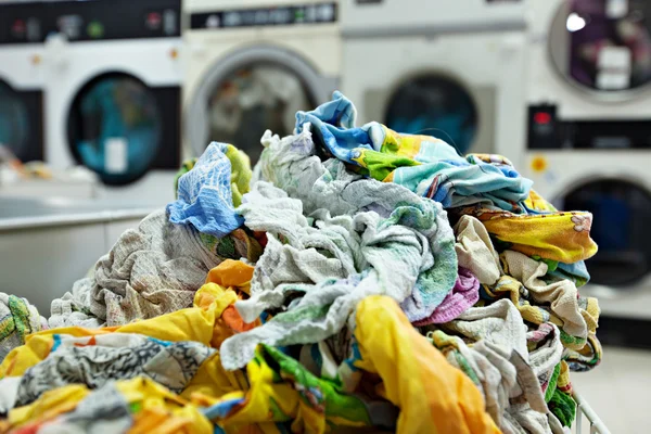
[[64, 0], [46, 10], [48, 163], [93, 170], [100, 199], [174, 200], [180, 0]]

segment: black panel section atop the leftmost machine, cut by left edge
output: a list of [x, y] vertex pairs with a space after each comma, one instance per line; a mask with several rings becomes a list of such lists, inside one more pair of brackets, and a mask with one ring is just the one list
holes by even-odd
[[42, 42], [43, 12], [40, 3], [0, 3], [0, 44]]

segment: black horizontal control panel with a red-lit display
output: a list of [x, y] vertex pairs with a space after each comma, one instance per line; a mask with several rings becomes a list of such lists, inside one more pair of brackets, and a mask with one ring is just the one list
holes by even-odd
[[527, 145], [533, 150], [651, 150], [651, 119], [563, 119], [556, 105], [531, 105]]

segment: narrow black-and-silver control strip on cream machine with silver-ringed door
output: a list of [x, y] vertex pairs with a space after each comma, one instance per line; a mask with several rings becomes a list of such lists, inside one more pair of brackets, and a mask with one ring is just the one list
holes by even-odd
[[334, 23], [336, 20], [336, 3], [324, 2], [308, 5], [237, 9], [193, 13], [190, 15], [190, 27], [193, 29], [218, 29], [289, 26], [296, 24]]

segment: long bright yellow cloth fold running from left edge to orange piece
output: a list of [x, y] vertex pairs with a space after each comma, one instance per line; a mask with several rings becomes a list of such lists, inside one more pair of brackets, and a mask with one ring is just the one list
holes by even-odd
[[22, 375], [28, 368], [43, 360], [52, 348], [53, 334], [92, 336], [112, 332], [139, 333], [162, 341], [195, 341], [209, 346], [213, 335], [221, 332], [214, 330], [215, 323], [237, 296], [232, 291], [208, 284], [197, 291], [194, 299], [200, 302], [201, 307], [181, 309], [126, 326], [103, 329], [68, 327], [30, 334], [25, 339], [25, 345], [14, 348], [4, 358], [0, 365], [0, 378]]

